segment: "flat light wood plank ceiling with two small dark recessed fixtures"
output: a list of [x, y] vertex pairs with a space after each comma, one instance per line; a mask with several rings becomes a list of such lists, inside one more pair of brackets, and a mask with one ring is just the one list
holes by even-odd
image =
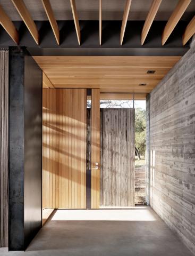
[[[100, 88], [101, 93], [149, 93], [181, 57], [35, 56], [56, 88]], [[155, 70], [154, 74], [147, 74]], [[146, 84], [146, 85], [140, 85]]]

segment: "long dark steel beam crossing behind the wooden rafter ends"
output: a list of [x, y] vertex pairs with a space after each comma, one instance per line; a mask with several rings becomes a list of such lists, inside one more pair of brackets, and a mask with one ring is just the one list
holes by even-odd
[[[144, 21], [128, 21], [122, 46], [120, 45], [120, 21], [103, 21], [101, 45], [99, 45], [99, 22], [80, 21], [80, 46], [78, 45], [74, 22], [58, 21], [57, 23], [61, 36], [60, 46], [56, 43], [48, 21], [36, 21], [40, 34], [40, 45], [35, 43], [22, 21], [14, 22], [15, 27], [19, 30], [20, 46], [27, 46], [29, 49], [35, 48], [35, 52], [41, 54], [54, 49], [53, 52], [57, 50], [57, 55], [71, 55], [74, 51], [77, 52], [75, 53], [77, 55], [183, 55], [190, 45], [189, 42], [185, 46], [182, 45], [182, 34], [187, 25], [184, 21], [177, 24], [164, 46], [162, 46], [161, 36], [166, 24], [165, 21], [154, 21], [152, 23], [144, 45], [141, 45], [140, 42]], [[0, 46], [14, 45], [14, 42], [3, 28], [0, 28], [0, 35]], [[48, 55], [51, 54], [54, 55], [54, 53]]]

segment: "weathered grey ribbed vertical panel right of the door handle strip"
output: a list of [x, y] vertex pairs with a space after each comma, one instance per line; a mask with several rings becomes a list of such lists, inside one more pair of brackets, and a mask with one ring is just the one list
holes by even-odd
[[101, 109], [101, 206], [134, 206], [134, 109]]

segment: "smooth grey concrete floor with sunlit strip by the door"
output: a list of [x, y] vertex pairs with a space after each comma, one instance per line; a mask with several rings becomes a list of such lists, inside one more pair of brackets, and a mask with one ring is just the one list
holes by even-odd
[[148, 206], [124, 210], [58, 210], [22, 256], [192, 256]]

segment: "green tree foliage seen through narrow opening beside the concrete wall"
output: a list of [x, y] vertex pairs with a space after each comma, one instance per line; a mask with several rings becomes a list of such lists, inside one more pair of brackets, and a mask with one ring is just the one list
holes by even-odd
[[135, 109], [135, 147], [140, 155], [145, 155], [146, 150], [146, 110]]

